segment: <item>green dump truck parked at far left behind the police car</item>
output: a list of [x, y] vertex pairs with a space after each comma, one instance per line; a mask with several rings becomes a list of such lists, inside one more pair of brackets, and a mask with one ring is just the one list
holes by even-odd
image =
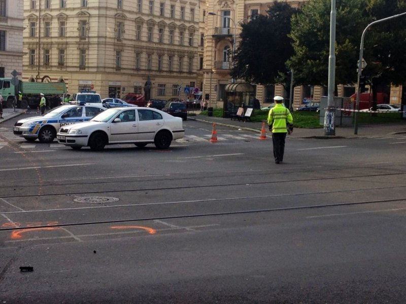
[[[22, 100], [18, 99], [18, 92], [22, 93]], [[41, 100], [40, 94], [45, 95], [48, 108], [54, 108], [60, 105], [63, 100], [63, 95], [66, 93], [64, 83], [43, 83], [43, 82], [22, 82], [18, 81], [18, 85], [14, 85], [12, 78], [0, 78], [0, 94], [3, 96], [3, 106], [11, 108], [36, 109]]]

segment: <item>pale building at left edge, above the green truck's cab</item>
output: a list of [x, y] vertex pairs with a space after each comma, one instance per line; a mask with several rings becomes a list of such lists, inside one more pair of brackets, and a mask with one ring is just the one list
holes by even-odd
[[22, 72], [24, 0], [0, 0], [0, 78]]

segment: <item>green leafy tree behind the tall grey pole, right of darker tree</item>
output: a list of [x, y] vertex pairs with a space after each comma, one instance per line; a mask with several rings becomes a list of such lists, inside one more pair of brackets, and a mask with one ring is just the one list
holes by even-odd
[[[292, 17], [294, 55], [287, 64], [299, 85], [328, 84], [331, 0], [310, 0]], [[336, 1], [335, 80], [356, 82], [359, 43], [365, 24], [365, 0]]]

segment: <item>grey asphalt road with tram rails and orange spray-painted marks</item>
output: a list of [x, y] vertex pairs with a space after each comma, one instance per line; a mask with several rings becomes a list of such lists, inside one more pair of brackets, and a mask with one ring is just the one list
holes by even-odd
[[[187, 121], [168, 150], [28, 143], [0, 125], [0, 301], [403, 303], [405, 135]], [[20, 267], [33, 271], [21, 272]]]

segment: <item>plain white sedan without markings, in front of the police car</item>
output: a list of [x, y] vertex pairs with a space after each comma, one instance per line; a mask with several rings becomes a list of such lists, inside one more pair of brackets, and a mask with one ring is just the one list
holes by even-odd
[[116, 107], [107, 109], [89, 122], [59, 129], [59, 143], [75, 150], [89, 146], [103, 150], [108, 144], [133, 143], [144, 147], [154, 143], [167, 149], [172, 140], [183, 138], [182, 119], [147, 107]]

